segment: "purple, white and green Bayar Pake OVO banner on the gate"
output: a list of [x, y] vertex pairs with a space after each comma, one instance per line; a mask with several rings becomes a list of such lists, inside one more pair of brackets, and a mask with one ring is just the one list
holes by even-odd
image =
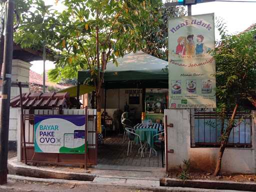
[[84, 115], [35, 115], [34, 151], [84, 153]]

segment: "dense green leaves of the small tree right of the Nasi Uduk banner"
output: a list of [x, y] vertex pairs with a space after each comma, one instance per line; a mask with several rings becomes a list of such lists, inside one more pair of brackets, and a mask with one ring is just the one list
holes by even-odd
[[250, 102], [256, 88], [256, 29], [227, 35], [224, 24], [217, 23], [222, 34], [220, 45], [213, 51], [216, 60], [216, 98], [227, 110]]

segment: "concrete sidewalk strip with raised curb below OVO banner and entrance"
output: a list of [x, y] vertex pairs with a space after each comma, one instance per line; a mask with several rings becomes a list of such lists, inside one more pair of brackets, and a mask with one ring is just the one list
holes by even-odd
[[65, 179], [84, 180], [87, 178], [94, 178], [100, 176], [115, 176], [115, 177], [128, 177], [128, 178], [145, 178], [159, 180], [165, 176], [165, 169], [159, 167], [139, 167], [139, 166], [120, 166], [120, 165], [107, 165], [98, 164], [94, 168], [85, 170], [79, 167], [72, 166], [52, 166], [52, 165], [39, 165], [32, 166], [26, 165], [17, 161], [16, 158], [8, 160], [8, 169], [10, 174], [19, 174], [24, 176], [46, 177]]

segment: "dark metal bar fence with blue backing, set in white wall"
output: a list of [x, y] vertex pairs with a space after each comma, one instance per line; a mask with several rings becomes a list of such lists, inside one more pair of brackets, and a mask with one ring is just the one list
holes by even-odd
[[[224, 131], [228, 119], [221, 120], [214, 108], [194, 109], [191, 113], [193, 118], [193, 141], [195, 146], [218, 147], [220, 144], [221, 131]], [[231, 113], [228, 114], [231, 116]], [[238, 111], [234, 121], [228, 147], [251, 147], [251, 115], [250, 111]], [[223, 130], [221, 127], [223, 125]]]

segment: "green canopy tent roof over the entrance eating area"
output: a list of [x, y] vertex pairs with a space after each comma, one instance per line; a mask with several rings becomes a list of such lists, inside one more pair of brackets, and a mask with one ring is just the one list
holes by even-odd
[[[142, 51], [130, 52], [116, 59], [118, 65], [107, 62], [104, 83], [113, 81], [168, 80], [168, 62]], [[78, 71], [78, 83], [89, 76], [88, 71]]]

